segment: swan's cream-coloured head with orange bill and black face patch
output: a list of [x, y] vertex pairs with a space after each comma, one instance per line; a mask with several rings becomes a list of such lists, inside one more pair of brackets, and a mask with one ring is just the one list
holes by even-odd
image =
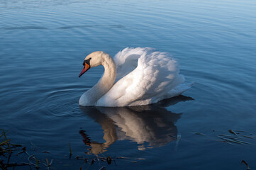
[[102, 62], [104, 62], [104, 58], [102, 57], [104, 54], [106, 53], [101, 51], [96, 51], [96, 52], [91, 52], [91, 54], [87, 55], [87, 57], [85, 57], [84, 59], [84, 62], [83, 62], [84, 67], [82, 69], [82, 72], [79, 74], [79, 77], [81, 77], [82, 74], [87, 72], [87, 70], [90, 69], [91, 67], [97, 67], [101, 65]]

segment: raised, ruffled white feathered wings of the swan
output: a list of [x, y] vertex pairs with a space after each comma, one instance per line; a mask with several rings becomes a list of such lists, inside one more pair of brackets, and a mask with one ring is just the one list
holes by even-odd
[[172, 90], [184, 82], [184, 76], [179, 74], [177, 61], [167, 52], [126, 48], [118, 52], [115, 62], [120, 72], [119, 80], [97, 101], [96, 106], [147, 105], [181, 94]]

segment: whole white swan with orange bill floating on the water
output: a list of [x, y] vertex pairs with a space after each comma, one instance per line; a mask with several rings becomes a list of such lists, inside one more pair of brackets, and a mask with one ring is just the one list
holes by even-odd
[[[99, 82], [79, 99], [81, 106], [140, 106], [182, 94], [191, 84], [182, 84], [177, 61], [167, 52], [149, 47], [126, 48], [114, 60], [106, 52], [92, 52], [84, 59], [79, 77], [91, 67], [104, 66]], [[115, 83], [116, 81], [116, 83]]]

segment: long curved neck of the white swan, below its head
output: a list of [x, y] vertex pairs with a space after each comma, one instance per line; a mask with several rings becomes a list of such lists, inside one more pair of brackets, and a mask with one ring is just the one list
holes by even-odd
[[101, 53], [101, 64], [104, 66], [104, 74], [96, 85], [94, 85], [84, 95], [83, 106], [94, 106], [96, 101], [106, 94], [116, 80], [116, 64], [112, 57], [105, 52]]

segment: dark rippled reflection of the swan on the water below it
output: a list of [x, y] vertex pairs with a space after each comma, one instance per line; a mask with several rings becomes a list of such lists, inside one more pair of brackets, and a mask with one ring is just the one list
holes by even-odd
[[89, 154], [106, 152], [106, 148], [117, 140], [137, 142], [138, 150], [162, 147], [177, 140], [177, 127], [174, 123], [181, 113], [172, 113], [165, 107], [193, 98], [177, 96], [150, 106], [122, 108], [83, 107], [81, 110], [104, 130], [104, 143], [91, 141], [85, 130], [80, 130], [85, 145], [91, 147]]

